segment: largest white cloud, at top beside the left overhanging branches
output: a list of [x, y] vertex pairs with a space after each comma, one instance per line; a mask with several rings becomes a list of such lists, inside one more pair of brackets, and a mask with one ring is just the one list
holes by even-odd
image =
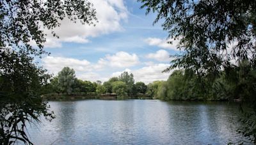
[[83, 25], [79, 20], [74, 23], [64, 18], [60, 22], [60, 27], [54, 28], [54, 32], [60, 36], [60, 39], [54, 38], [51, 31], [45, 30], [47, 34], [45, 47], [61, 47], [61, 42], [88, 43], [90, 37], [122, 31], [120, 22], [127, 20], [128, 17], [128, 10], [123, 0], [91, 0], [90, 2], [93, 3], [99, 21], [95, 27]]

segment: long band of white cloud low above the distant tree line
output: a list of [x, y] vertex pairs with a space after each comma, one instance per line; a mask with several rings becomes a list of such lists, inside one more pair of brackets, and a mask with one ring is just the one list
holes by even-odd
[[[48, 69], [49, 72], [53, 72], [55, 75], [58, 74], [63, 67], [68, 66], [76, 71], [77, 78], [90, 81], [108, 81], [110, 77], [119, 76], [124, 71], [134, 74], [135, 81], [143, 81], [144, 83], [151, 83], [156, 80], [166, 80], [170, 75], [170, 73], [162, 73], [169, 64], [154, 64], [153, 62], [148, 62], [148, 66], [141, 67], [140, 69], [132, 70], [127, 68], [124, 71], [114, 72], [114, 68], [120, 67], [121, 64], [123, 64], [123, 66], [131, 66], [129, 63], [131, 63], [132, 60], [131, 62], [128, 61], [128, 64], [127, 60], [120, 60], [120, 58], [126, 55], [129, 55], [131, 58], [138, 58], [135, 54], [130, 55], [126, 52], [118, 52], [115, 55], [108, 55], [104, 59], [99, 59], [97, 64], [88, 62], [88, 60], [85, 59], [79, 60], [66, 57], [45, 57], [42, 59], [42, 62], [45, 69]], [[127, 57], [122, 59], [127, 59]], [[115, 61], [118, 60], [120, 60], [121, 63], [116, 64]], [[99, 67], [95, 67], [100, 63], [102, 63], [101, 65], [104, 67], [102, 71], [99, 71]], [[111, 67], [111, 65], [113, 67]]]

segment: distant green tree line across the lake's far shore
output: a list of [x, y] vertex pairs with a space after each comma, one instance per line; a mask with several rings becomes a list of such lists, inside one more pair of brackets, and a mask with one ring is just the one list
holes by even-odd
[[116, 94], [118, 99], [127, 99], [136, 95], [145, 95], [147, 85], [143, 82], [134, 83], [133, 74], [123, 72], [118, 77], [108, 81], [91, 82], [76, 78], [76, 72], [70, 67], [64, 67], [58, 75], [51, 79], [50, 83], [43, 87], [44, 93], [58, 93], [58, 95], [70, 95], [71, 93], [97, 93], [99, 95]]

